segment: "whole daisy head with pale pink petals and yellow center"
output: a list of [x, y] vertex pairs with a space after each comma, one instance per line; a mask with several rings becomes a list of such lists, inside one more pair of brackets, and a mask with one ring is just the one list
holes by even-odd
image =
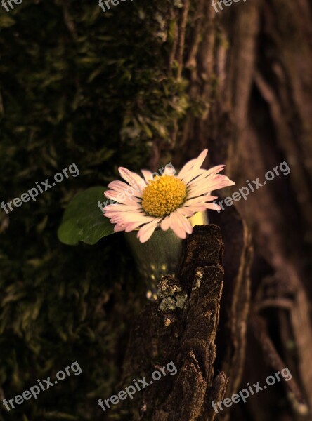
[[126, 168], [119, 167], [122, 181], [110, 182], [104, 194], [116, 201], [103, 208], [104, 216], [116, 224], [114, 231], [130, 232], [138, 229], [137, 237], [141, 243], [150, 239], [156, 227], [164, 231], [171, 228], [181, 239], [192, 233], [188, 218], [206, 209], [221, 210], [217, 199], [211, 196], [212, 190], [234, 185], [226, 175], [219, 174], [225, 165], [209, 170], [200, 168], [208, 149], [195, 159], [191, 159], [174, 175], [172, 168], [164, 169], [162, 175], [141, 170], [143, 178]]

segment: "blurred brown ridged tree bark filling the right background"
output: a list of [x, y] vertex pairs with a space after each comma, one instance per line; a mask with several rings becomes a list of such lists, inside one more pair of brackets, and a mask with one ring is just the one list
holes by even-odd
[[[190, 10], [187, 1], [183, 10]], [[201, 99], [206, 109], [201, 118], [190, 115], [181, 125], [182, 141], [171, 145], [174, 164], [181, 166], [208, 147], [210, 163], [226, 162], [226, 173], [236, 182], [229, 195], [252, 180], [261, 183], [235, 203], [245, 220], [240, 256], [250, 260], [247, 226], [254, 258], [250, 279], [233, 268], [239, 262], [237, 244], [223, 263], [219, 328], [227, 330], [230, 346], [217, 338], [216, 363], [229, 379], [226, 396], [247, 382], [264, 382], [282, 367], [292, 373], [290, 382], [279, 382], [219, 415], [311, 420], [311, 1], [240, 1], [215, 13], [202, 0], [188, 18], [183, 72], [191, 97]], [[158, 145], [157, 153], [167, 149]], [[289, 174], [285, 167], [281, 171], [283, 162]], [[264, 178], [267, 171], [273, 180]], [[221, 218], [223, 236], [234, 243], [238, 239], [226, 223], [232, 208], [224, 209], [213, 222], [221, 226]], [[223, 317], [229, 312], [228, 319]]]

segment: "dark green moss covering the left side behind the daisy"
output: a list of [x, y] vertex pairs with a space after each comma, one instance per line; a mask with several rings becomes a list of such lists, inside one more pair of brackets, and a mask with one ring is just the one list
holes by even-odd
[[0, 201], [72, 163], [80, 173], [0, 212], [0, 392], [11, 399], [74, 361], [82, 374], [0, 420], [105, 416], [97, 399], [116, 386], [143, 288], [122, 234], [72, 248], [57, 229], [77, 193], [107, 185], [119, 165], [147, 168], [152, 140], [169, 141], [174, 119], [190, 107], [186, 83], [167, 69], [171, 5], [128, 0], [106, 13], [81, 0], [1, 7]]

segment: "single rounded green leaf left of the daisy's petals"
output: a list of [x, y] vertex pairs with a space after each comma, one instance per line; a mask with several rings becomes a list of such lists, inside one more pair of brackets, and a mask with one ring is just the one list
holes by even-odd
[[83, 241], [93, 245], [114, 234], [113, 225], [98, 206], [98, 201], [103, 203], [105, 199], [105, 190], [105, 187], [91, 187], [70, 202], [58, 228], [58, 239], [62, 243], [75, 246]]

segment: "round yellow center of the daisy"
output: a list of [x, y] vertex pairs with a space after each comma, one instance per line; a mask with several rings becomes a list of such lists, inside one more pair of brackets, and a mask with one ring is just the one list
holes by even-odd
[[186, 199], [186, 185], [174, 175], [156, 175], [143, 190], [142, 207], [148, 215], [164, 216]]

